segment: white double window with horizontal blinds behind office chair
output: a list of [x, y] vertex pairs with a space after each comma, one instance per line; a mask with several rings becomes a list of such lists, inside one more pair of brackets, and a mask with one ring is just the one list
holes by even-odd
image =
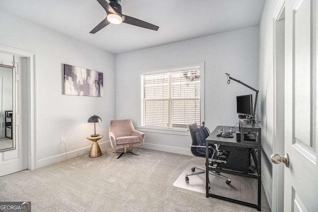
[[203, 119], [203, 63], [140, 72], [140, 126], [186, 130]]

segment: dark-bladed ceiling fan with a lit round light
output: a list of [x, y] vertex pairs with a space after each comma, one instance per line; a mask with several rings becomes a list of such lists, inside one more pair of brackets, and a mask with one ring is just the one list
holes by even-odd
[[121, 22], [143, 27], [146, 29], [156, 30], [156, 31], [158, 31], [159, 29], [159, 26], [122, 14], [121, 5], [119, 4], [120, 0], [110, 0], [109, 3], [107, 3], [107, 1], [105, 0], [97, 0], [97, 1], [106, 10], [107, 16], [89, 33], [95, 34], [96, 32], [98, 32], [99, 30], [101, 30], [102, 28], [104, 28], [110, 23], [120, 24]]

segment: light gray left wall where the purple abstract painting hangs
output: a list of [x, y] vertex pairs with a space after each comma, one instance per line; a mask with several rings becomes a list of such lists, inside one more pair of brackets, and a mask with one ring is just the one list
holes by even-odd
[[[36, 167], [65, 160], [65, 147], [71, 155], [89, 150], [96, 114], [102, 122], [96, 131], [108, 141], [109, 121], [115, 118], [115, 55], [51, 29], [0, 12], [0, 45], [36, 54]], [[104, 73], [104, 97], [63, 95], [63, 64]], [[86, 148], [87, 147], [87, 148]]]

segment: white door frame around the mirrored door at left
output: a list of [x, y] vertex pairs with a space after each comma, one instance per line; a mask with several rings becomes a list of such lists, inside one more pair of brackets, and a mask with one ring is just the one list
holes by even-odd
[[27, 143], [28, 169], [36, 169], [36, 72], [35, 54], [32, 52], [0, 45], [0, 52], [26, 58], [27, 69]]

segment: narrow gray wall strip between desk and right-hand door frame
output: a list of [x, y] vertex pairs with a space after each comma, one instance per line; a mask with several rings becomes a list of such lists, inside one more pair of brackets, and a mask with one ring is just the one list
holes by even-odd
[[[283, 210], [283, 191], [277, 194], [277, 187], [283, 188], [283, 182], [277, 184], [278, 179], [283, 179], [282, 174], [277, 175], [277, 170], [283, 166], [274, 166], [270, 161], [275, 152], [276, 136], [275, 121], [275, 62], [274, 62], [274, 21], [273, 17], [278, 0], [266, 0], [262, 18], [259, 25], [259, 90], [260, 90], [260, 126], [262, 127], [262, 184], [273, 212]], [[279, 70], [278, 70], [279, 71]], [[280, 82], [282, 84], [283, 82]], [[279, 114], [279, 113], [278, 113]], [[283, 130], [283, 129], [281, 129]], [[277, 131], [277, 130], [276, 130]], [[284, 141], [279, 139], [280, 145]], [[281, 154], [281, 153], [280, 153]], [[276, 176], [276, 177], [275, 177]]]

